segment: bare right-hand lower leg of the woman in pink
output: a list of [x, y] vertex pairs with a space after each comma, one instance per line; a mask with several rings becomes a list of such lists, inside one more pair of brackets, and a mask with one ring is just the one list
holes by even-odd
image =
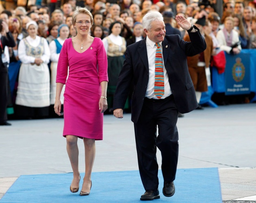
[[83, 192], [90, 192], [91, 188], [91, 171], [93, 168], [93, 162], [95, 158], [95, 140], [84, 138], [85, 145], [85, 177], [82, 184]]

